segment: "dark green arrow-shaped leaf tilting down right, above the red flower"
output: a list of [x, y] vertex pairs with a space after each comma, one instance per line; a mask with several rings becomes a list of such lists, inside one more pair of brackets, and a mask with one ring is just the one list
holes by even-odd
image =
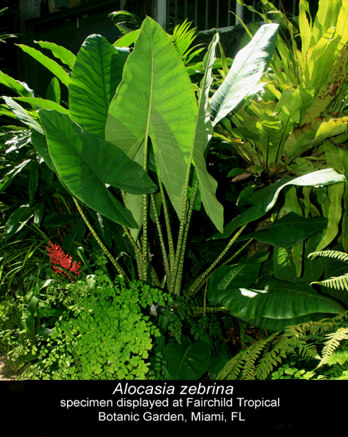
[[157, 186], [124, 152], [56, 111], [40, 109], [49, 155], [68, 189], [85, 205], [126, 227], [137, 227], [131, 213], [105, 184], [134, 194], [152, 193]]

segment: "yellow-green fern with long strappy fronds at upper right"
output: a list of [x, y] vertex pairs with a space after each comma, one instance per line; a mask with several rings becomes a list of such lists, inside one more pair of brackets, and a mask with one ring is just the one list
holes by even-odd
[[[270, 18], [276, 19], [281, 35], [285, 32], [288, 37], [277, 38], [268, 71], [239, 107], [216, 126], [214, 133], [216, 138], [223, 140], [215, 148], [220, 157], [231, 158], [230, 151], [233, 150], [244, 162], [241, 168], [230, 170], [227, 177], [231, 177], [233, 182], [249, 178], [254, 181], [239, 198], [249, 196], [260, 185], [272, 184], [283, 175], [304, 175], [328, 167], [347, 175], [346, 2], [319, 1], [313, 22], [308, 1], [300, 0], [295, 24], [270, 1], [263, 0], [261, 5], [263, 13], [252, 6], [244, 6], [258, 13], [265, 23], [272, 23]], [[246, 28], [241, 47], [257, 29], [257, 23]], [[304, 217], [313, 210], [312, 199], [320, 199], [321, 214], [329, 222], [318, 251], [337, 237], [340, 222], [342, 229], [347, 229], [347, 189], [346, 184], [335, 188], [304, 188], [301, 205], [294, 189], [289, 189], [285, 195], [287, 212], [293, 211]], [[338, 237], [347, 251], [347, 232], [338, 234]], [[293, 252], [299, 275], [302, 251], [303, 243]]]

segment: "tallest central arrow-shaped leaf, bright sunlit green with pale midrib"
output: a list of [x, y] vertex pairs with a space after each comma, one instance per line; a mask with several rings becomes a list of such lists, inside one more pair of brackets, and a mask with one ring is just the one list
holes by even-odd
[[[150, 138], [157, 174], [181, 216], [197, 100], [181, 57], [154, 20], [143, 21], [122, 81], [109, 107], [105, 139], [143, 162]], [[187, 159], [187, 158], [186, 158]]]

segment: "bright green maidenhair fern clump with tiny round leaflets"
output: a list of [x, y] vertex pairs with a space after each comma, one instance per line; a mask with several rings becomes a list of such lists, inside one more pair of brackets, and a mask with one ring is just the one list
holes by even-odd
[[[95, 289], [78, 281], [59, 290], [66, 311], [50, 337], [31, 347], [29, 353], [38, 353], [38, 361], [21, 379], [141, 380], [163, 374], [161, 356], [150, 357], [160, 330], [147, 309], [152, 302], [164, 306], [171, 298], [164, 300], [161, 290], [140, 281], [129, 287], [121, 277], [114, 284], [105, 282], [107, 276], [100, 273]], [[56, 290], [47, 292], [53, 292], [47, 302], [56, 303]]]

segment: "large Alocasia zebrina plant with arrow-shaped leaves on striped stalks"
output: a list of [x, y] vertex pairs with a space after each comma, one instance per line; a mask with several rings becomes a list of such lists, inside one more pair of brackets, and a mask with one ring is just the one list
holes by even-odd
[[[103, 217], [107, 217], [124, 227], [124, 234], [131, 241], [136, 255], [140, 280], [152, 281], [162, 288], [167, 282], [168, 291], [176, 296], [182, 293], [181, 277], [188, 226], [198, 193], [205, 212], [220, 234], [228, 234], [229, 237], [241, 227], [229, 240], [223, 253], [188, 289], [187, 297], [193, 297], [212, 275], [217, 263], [246, 224], [258, 219], [275, 205], [283, 186], [326, 185], [345, 180], [344, 176], [331, 169], [299, 178], [282, 179], [265, 188], [264, 192], [259, 191], [255, 205], [236, 217], [228, 229], [224, 229], [223, 207], [215, 196], [217, 182], [207, 171], [204, 153], [212, 138], [213, 126], [241, 102], [268, 68], [275, 49], [277, 29], [277, 24], [268, 24], [256, 32], [253, 40], [236, 55], [227, 77], [212, 99], [209, 99], [209, 90], [218, 33], [213, 37], [203, 60], [205, 75], [200, 83], [197, 101], [184, 62], [172, 40], [151, 18], [144, 20], [131, 54], [128, 49], [112, 46], [100, 35], [91, 35], [85, 40], [68, 82], [68, 114], [66, 109], [60, 109], [58, 103], [53, 108], [52, 102], [48, 104], [47, 101], [30, 99], [30, 104], [44, 108], [38, 112], [40, 120], [35, 121], [16, 102], [6, 97], [8, 107], [20, 114], [23, 122], [33, 128], [32, 143], [35, 149], [71, 193], [83, 220], [125, 280], [129, 281], [129, 278], [97, 237], [80, 205], [97, 211], [100, 220], [106, 220]], [[57, 53], [56, 47], [52, 49]], [[28, 47], [25, 50], [30, 52]], [[66, 52], [61, 53], [64, 56]], [[53, 68], [52, 64], [48, 65]], [[61, 70], [54, 66], [52, 71], [56, 71], [57, 77], [66, 83], [66, 76]], [[37, 112], [34, 114], [37, 117]], [[191, 185], [190, 174], [193, 174]], [[109, 186], [120, 190], [119, 199], [108, 189]], [[179, 237], [175, 242], [169, 225], [166, 193], [180, 220]], [[124, 205], [119, 200], [123, 200]], [[166, 273], [163, 280], [158, 278], [151, 265], [148, 241], [150, 208], [161, 241]], [[159, 220], [161, 208], [164, 210], [169, 253]], [[290, 223], [282, 224], [282, 229], [296, 229], [300, 225], [292, 218]], [[313, 223], [311, 232], [305, 236], [299, 234], [293, 244], [320, 229], [323, 229], [322, 222]], [[219, 289], [226, 291], [223, 306], [211, 307], [210, 311], [222, 309], [234, 313], [230, 299], [226, 298], [227, 285], [233, 285], [236, 277], [237, 282], [244, 281], [244, 287], [253, 285], [259, 267], [260, 261], [253, 266], [240, 265], [237, 272], [232, 271], [234, 266], [222, 265], [227, 269], [223, 275], [221, 267], [215, 270], [212, 277], [215, 290], [210, 287], [211, 301], [215, 300], [215, 305], [221, 305], [217, 294], [213, 294]], [[272, 292], [274, 289], [276, 291]], [[254, 315], [258, 319], [263, 316], [268, 318], [268, 313], [272, 318], [277, 318], [278, 292], [279, 287], [275, 286], [263, 290], [263, 294], [268, 293], [270, 298], [268, 305], [259, 306], [255, 313], [253, 304], [258, 299], [246, 299], [252, 297], [252, 293], [238, 291], [243, 297], [235, 299], [239, 305], [238, 315], [248, 318], [250, 310], [251, 319]], [[318, 299], [306, 287], [293, 290], [289, 299], [297, 299], [301, 303], [292, 307], [290, 320], [297, 321], [308, 313], [338, 313], [342, 309], [329, 298]], [[282, 299], [281, 303], [286, 305], [286, 299]], [[287, 311], [278, 313], [281, 313], [280, 317], [287, 316]]]

